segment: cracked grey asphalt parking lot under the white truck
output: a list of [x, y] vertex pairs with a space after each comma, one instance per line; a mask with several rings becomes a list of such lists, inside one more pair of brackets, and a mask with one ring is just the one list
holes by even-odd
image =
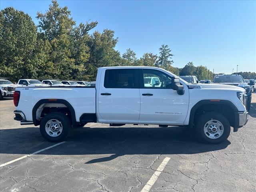
[[0, 101], [1, 192], [256, 191], [255, 93], [246, 126], [218, 145], [183, 127], [91, 123], [53, 146], [13, 110]]

